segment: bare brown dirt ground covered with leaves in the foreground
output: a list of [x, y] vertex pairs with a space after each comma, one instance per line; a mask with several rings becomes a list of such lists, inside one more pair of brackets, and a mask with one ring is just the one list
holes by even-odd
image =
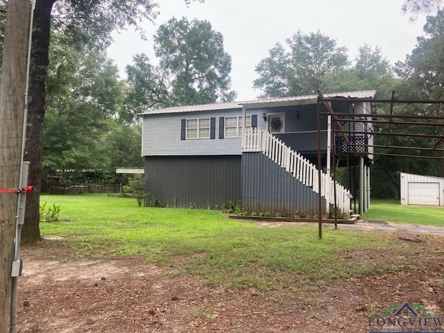
[[295, 280], [289, 289], [266, 294], [208, 287], [192, 275], [169, 277], [164, 267], [138, 258], [78, 260], [62, 241], [45, 239], [22, 249], [19, 332], [359, 333], [370, 332], [369, 316], [394, 302], [419, 303], [430, 314], [444, 314], [444, 239], [402, 230], [379, 237], [408, 242], [409, 250], [338, 255], [399, 269], [330, 282]]

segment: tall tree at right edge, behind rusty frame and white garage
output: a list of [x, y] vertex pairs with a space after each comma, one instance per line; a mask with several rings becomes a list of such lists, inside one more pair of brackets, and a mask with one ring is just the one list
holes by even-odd
[[[398, 99], [434, 99], [444, 98], [444, 12], [438, 11], [437, 15], [427, 17], [424, 26], [425, 36], [418, 37], [418, 43], [404, 62], [395, 64], [395, 72], [400, 78], [397, 89]], [[395, 114], [442, 115], [442, 108], [437, 105], [400, 105], [394, 107]], [[414, 121], [414, 119], [411, 119]], [[424, 120], [422, 120], [424, 121]], [[384, 132], [387, 126], [381, 126]], [[436, 126], [392, 126], [404, 133], [412, 134], [443, 134], [443, 127]], [[386, 144], [379, 137], [375, 137], [375, 144]], [[434, 139], [419, 137], [390, 137], [389, 144], [393, 146], [418, 146], [433, 147], [437, 142]], [[437, 148], [443, 148], [438, 146]], [[386, 153], [405, 153], [399, 149], [386, 150]], [[431, 157], [443, 157], [442, 151], [409, 151], [409, 155], [429, 155]], [[373, 179], [378, 180], [378, 185], [373, 186], [372, 195], [379, 197], [397, 197], [399, 192], [399, 172], [420, 173], [435, 176], [444, 176], [443, 160], [423, 160], [412, 157], [375, 157]]]

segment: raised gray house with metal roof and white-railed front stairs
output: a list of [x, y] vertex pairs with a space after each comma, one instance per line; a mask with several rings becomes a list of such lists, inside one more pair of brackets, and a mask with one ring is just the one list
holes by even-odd
[[[329, 103], [335, 112], [371, 117], [370, 103], [353, 99], [373, 99], [373, 90], [324, 96], [341, 97]], [[146, 193], [170, 207], [220, 210], [232, 202], [248, 212], [294, 216], [318, 212], [319, 191], [328, 212], [336, 187], [337, 207], [349, 212], [350, 192], [332, 181], [327, 167], [332, 148], [327, 143], [338, 125], [326, 116], [321, 119], [323, 171], [318, 179], [317, 106], [318, 96], [312, 95], [144, 112]], [[359, 123], [352, 126], [362, 132]], [[348, 137], [352, 141], [359, 135], [372, 139]], [[364, 168], [371, 153], [366, 151]], [[364, 173], [369, 175], [369, 169]]]

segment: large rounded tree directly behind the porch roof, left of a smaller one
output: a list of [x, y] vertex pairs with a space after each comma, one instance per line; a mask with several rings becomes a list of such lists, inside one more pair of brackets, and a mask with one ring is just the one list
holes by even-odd
[[254, 87], [262, 90], [262, 97], [313, 94], [328, 72], [337, 73], [348, 65], [347, 49], [336, 40], [317, 33], [303, 35], [301, 31], [287, 39], [287, 50], [276, 44], [268, 58], [259, 62], [259, 78]]

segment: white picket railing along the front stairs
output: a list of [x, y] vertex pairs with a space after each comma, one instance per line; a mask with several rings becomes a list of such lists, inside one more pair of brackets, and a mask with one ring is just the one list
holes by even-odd
[[348, 213], [350, 211], [350, 200], [352, 198], [350, 191], [334, 182], [323, 171], [321, 171], [320, 187], [318, 169], [316, 169], [314, 164], [311, 164], [309, 160], [296, 151], [292, 151], [290, 147], [274, 135], [268, 133], [268, 131], [259, 128], [246, 128], [242, 151], [262, 152], [270, 160], [286, 169], [302, 184], [311, 187], [314, 192], [319, 193], [321, 188], [321, 196], [327, 200], [327, 203], [332, 205], [334, 205], [334, 187], [336, 185], [336, 207], [338, 207], [341, 213]]

